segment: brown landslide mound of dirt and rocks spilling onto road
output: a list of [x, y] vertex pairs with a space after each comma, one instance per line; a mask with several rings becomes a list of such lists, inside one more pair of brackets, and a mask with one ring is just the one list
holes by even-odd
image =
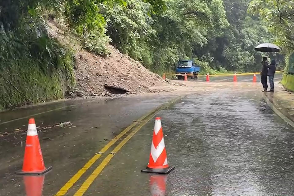
[[[75, 49], [77, 86], [68, 97], [113, 96], [142, 92], [171, 91], [170, 84], [146, 69], [140, 62], [109, 45], [110, 55], [103, 58], [80, 46], [54, 21], [47, 21], [48, 32], [61, 43]], [[159, 88], [154, 88], [158, 86]]]

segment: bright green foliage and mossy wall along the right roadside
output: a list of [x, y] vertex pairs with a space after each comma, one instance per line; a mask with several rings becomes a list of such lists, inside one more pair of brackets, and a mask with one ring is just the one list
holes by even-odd
[[294, 1], [252, 0], [248, 13], [259, 17], [286, 54], [282, 84], [294, 91]]

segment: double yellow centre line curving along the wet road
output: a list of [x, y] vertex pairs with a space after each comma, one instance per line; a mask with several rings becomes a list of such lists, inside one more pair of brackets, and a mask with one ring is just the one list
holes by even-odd
[[104, 167], [109, 163], [111, 158], [117, 153], [123, 145], [126, 144], [127, 141], [130, 140], [140, 130], [150, 119], [152, 119], [157, 112], [160, 110], [170, 106], [171, 104], [175, 103], [177, 100], [179, 100], [180, 97], [177, 97], [159, 107], [157, 107], [155, 110], [149, 112], [145, 116], [142, 116], [138, 120], [136, 120], [134, 123], [132, 123], [130, 126], [128, 126], [125, 130], [123, 130], [119, 135], [117, 135], [115, 138], [113, 138], [110, 142], [108, 142], [107, 145], [105, 145], [98, 154], [94, 155], [56, 194], [55, 196], [63, 196], [67, 193], [67, 191], [74, 185], [74, 183], [77, 182], [78, 179], [81, 178], [81, 176], [98, 160], [103, 153], [105, 153], [113, 144], [115, 144], [116, 141], [118, 141], [120, 138], [122, 138], [128, 131], [133, 129], [136, 125], [138, 125], [134, 130], [126, 136], [126, 138], [123, 139], [116, 147], [115, 149], [106, 156], [106, 158], [101, 162], [101, 164], [92, 172], [92, 174], [85, 180], [85, 182], [82, 184], [82, 186], [77, 190], [77, 192], [74, 194], [74, 196], [81, 196], [83, 195], [86, 190], [90, 187], [92, 182], [96, 179], [96, 177], [100, 174], [100, 172], [104, 169]]

